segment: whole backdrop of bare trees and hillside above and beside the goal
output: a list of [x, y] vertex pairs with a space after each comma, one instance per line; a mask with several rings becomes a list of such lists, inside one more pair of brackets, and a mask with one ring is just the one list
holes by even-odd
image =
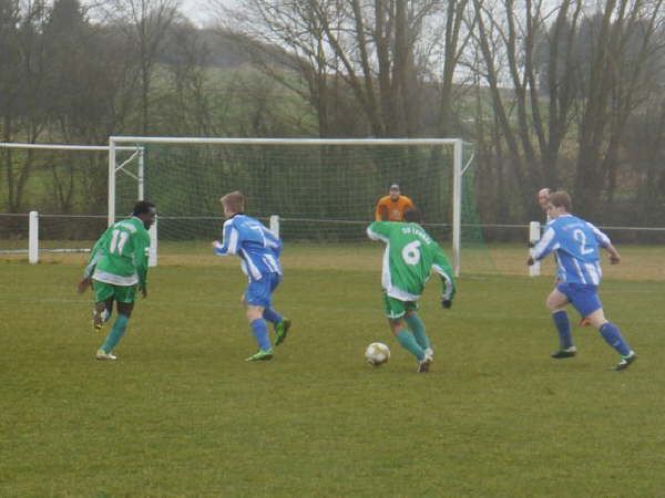
[[[462, 137], [483, 222], [540, 219], [549, 186], [598, 222], [661, 225], [663, 0], [206, 9], [197, 27], [178, 0], [0, 0], [1, 139]], [[3, 210], [21, 211], [37, 159], [0, 154]]]

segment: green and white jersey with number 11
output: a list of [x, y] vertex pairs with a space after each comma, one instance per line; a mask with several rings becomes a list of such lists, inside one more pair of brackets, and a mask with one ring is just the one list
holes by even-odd
[[113, 286], [139, 283], [145, 289], [150, 234], [133, 216], [104, 231], [90, 253], [84, 276]]

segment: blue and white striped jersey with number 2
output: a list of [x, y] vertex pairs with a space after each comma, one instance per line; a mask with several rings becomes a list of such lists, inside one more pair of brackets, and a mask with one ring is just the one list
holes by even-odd
[[573, 215], [562, 215], [551, 221], [533, 248], [533, 259], [550, 252], [557, 259], [557, 278], [569, 283], [597, 286], [603, 272], [598, 247], [610, 246], [610, 238], [589, 221]]

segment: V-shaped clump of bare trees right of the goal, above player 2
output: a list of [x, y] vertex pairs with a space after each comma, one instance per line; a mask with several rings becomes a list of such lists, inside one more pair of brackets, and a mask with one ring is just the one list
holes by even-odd
[[[581, 0], [551, 10], [540, 0], [474, 0], [482, 72], [525, 212], [543, 185], [567, 183], [585, 216], [612, 198], [621, 137], [662, 49], [662, 3], [613, 0], [587, 12]], [[561, 170], [564, 144], [576, 144], [572, 175]]]

